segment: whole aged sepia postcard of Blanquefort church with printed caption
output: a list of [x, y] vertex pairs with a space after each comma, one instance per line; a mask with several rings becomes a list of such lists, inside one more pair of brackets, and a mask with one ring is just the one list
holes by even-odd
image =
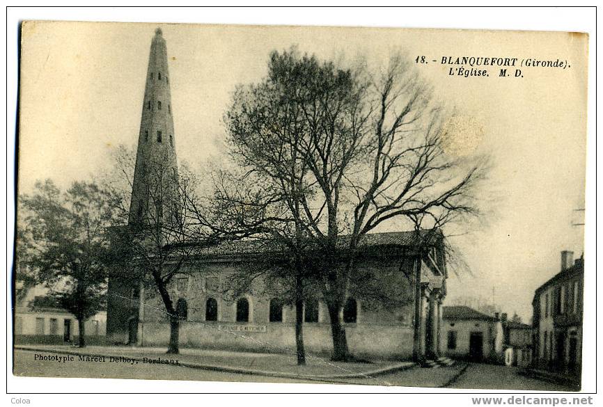
[[24, 21], [20, 47], [15, 376], [590, 374], [586, 33]]

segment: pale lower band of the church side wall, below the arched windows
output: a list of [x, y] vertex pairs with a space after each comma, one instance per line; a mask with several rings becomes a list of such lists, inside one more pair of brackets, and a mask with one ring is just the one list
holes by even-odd
[[[412, 356], [413, 330], [410, 327], [347, 324], [345, 331], [348, 348], [356, 357], [408, 359]], [[166, 346], [168, 342], [169, 324], [139, 324], [141, 346]], [[295, 351], [295, 326], [183, 321], [180, 346], [288, 353]], [[304, 346], [308, 353], [330, 354], [333, 350], [331, 326], [304, 324]]]

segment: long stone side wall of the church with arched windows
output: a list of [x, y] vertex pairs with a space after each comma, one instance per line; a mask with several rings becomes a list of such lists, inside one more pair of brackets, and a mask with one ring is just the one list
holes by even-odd
[[[187, 301], [187, 320], [180, 325], [180, 345], [207, 349], [240, 351], [287, 352], [295, 349], [295, 308], [283, 307], [283, 321], [269, 321], [269, 300], [278, 295], [265, 292], [258, 282], [245, 294], [249, 301], [249, 322], [236, 321], [236, 301], [220, 294], [237, 267], [244, 264], [211, 262], [191, 264], [186, 275], [175, 276], [169, 292], [175, 304], [178, 298]], [[396, 262], [366, 261], [359, 269], [370, 268], [382, 275], [384, 287], [396, 286], [396, 290], [412, 298], [412, 288], [400, 273]], [[362, 287], [352, 287], [350, 296], [360, 294]], [[207, 298], [218, 303], [218, 321], [205, 321]], [[139, 344], [164, 346], [169, 341], [169, 324], [165, 307], [154, 287], [147, 288], [139, 324]], [[400, 298], [400, 296], [396, 296]], [[356, 356], [385, 358], [410, 358], [413, 343], [413, 304], [391, 305], [357, 298], [357, 323], [343, 324], [350, 351]], [[343, 316], [342, 316], [343, 317]], [[254, 332], [259, 331], [259, 332]], [[332, 351], [331, 326], [324, 301], [319, 301], [318, 322], [304, 323], [304, 343], [308, 352]]]

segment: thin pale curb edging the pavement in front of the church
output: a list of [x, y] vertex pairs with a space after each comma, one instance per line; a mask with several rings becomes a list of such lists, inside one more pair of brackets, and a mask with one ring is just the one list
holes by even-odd
[[[42, 349], [42, 348], [27, 347], [27, 346], [14, 346], [14, 349], [15, 350], [18, 349], [18, 350], [22, 350], [22, 351], [36, 351], [36, 352], [47, 352], [47, 353], [63, 353], [65, 355], [72, 355], [72, 356], [93, 356], [93, 357], [104, 356], [104, 357], [108, 357], [107, 355], [101, 355], [101, 354], [90, 353], [90, 352], [70, 351], [68, 349]], [[113, 356], [113, 357], [116, 357], [116, 356]], [[126, 357], [130, 358], [130, 356], [126, 356]], [[130, 359], [136, 360], [138, 362], [142, 361], [141, 358], [136, 358], [136, 357], [132, 357]], [[228, 367], [228, 366], [220, 366], [220, 365], [203, 365], [201, 363], [194, 363], [194, 362], [178, 362], [178, 365], [171, 365], [171, 366], [182, 366], [182, 367], [189, 367], [191, 369], [210, 370], [210, 371], [213, 371], [213, 372], [248, 374], [248, 375], [251, 375], [251, 376], [265, 376], [265, 377], [279, 377], [279, 378], [299, 378], [299, 379], [304, 379], [304, 380], [324, 381], [324, 380], [334, 379], [334, 378], [370, 378], [372, 376], [377, 376], [377, 375], [380, 375], [380, 374], [387, 374], [387, 373], [391, 373], [391, 372], [398, 372], [398, 371], [401, 371], [401, 370], [407, 370], [407, 369], [410, 369], [412, 367], [415, 367], [416, 363], [413, 363], [413, 362], [402, 362], [402, 363], [399, 363], [398, 365], [393, 365], [393, 366], [389, 366], [389, 367], [383, 367], [381, 369], [375, 369], [375, 370], [372, 370], [372, 371], [369, 371], [369, 372], [347, 373], [347, 374], [320, 374], [320, 375], [293, 374], [293, 373], [285, 373], [285, 372], [272, 372], [272, 371], [265, 371], [265, 370], [242, 369], [242, 368], [239, 368], [239, 367]]]

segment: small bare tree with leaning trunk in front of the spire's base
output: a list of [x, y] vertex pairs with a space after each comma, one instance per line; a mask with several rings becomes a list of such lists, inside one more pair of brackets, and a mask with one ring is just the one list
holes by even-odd
[[[196, 202], [194, 176], [185, 166], [176, 171], [161, 160], [147, 163], [143, 191], [146, 202], [132, 218], [134, 154], [120, 146], [113, 158], [116, 166], [105, 184], [120, 198], [114, 210], [122, 219], [121, 226], [114, 228], [118, 231], [114, 246], [127, 257], [132, 274], [141, 280], [143, 287], [159, 294], [170, 324], [167, 353], [179, 353], [182, 316], [171, 296], [171, 285], [177, 276], [187, 276], [187, 262], [212, 239], [198, 224], [190, 222], [189, 202]], [[129, 216], [131, 222], [126, 227], [123, 220]]]

